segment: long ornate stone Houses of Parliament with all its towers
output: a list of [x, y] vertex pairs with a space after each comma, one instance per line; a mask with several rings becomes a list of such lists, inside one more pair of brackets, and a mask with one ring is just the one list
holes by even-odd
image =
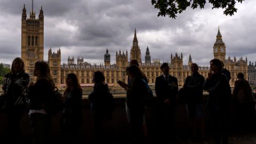
[[[48, 64], [51, 69], [51, 74], [55, 84], [58, 87], [64, 86], [66, 83], [66, 76], [69, 73], [75, 73], [79, 79], [79, 83], [82, 86], [92, 85], [92, 77], [94, 71], [102, 71], [106, 76], [106, 82], [110, 86], [117, 86], [117, 81], [127, 82], [127, 76], [125, 68], [129, 66], [129, 61], [135, 59], [139, 62], [139, 67], [142, 72], [147, 76], [150, 85], [154, 85], [157, 76], [162, 75], [162, 71], [159, 68], [162, 63], [160, 60], [151, 60], [149, 47], [146, 48], [145, 62], [141, 59], [141, 48], [138, 43], [136, 29], [134, 30], [134, 38], [132, 41], [132, 46], [130, 50], [130, 60], [128, 58], [128, 52], [116, 51], [115, 64], [110, 63], [110, 52], [106, 49], [106, 53], [103, 55], [104, 65], [91, 65], [90, 63], [84, 61], [84, 57], [77, 57], [75, 62], [74, 56], [68, 57], [68, 63], [61, 64], [61, 50], [58, 49], [57, 52], [52, 51], [50, 48], [48, 51]], [[236, 75], [239, 72], [244, 73], [245, 78], [247, 78], [247, 58], [242, 57], [233, 59], [228, 57], [226, 59], [226, 45], [222, 41], [222, 36], [220, 30], [216, 36], [216, 41], [213, 44], [213, 58], [222, 60], [225, 63], [226, 69], [231, 73], [230, 85], [234, 85], [236, 81]], [[86, 57], [86, 55], [85, 55]], [[35, 11], [32, 9], [29, 12], [29, 17], [27, 17], [25, 5], [22, 10], [21, 17], [21, 58], [25, 62], [25, 70], [30, 75], [30, 82], [36, 81], [33, 76], [34, 65], [37, 60], [44, 60], [44, 13], [41, 6], [38, 18], [36, 18]], [[195, 61], [196, 62], [196, 61]], [[175, 53], [170, 54], [170, 74], [178, 78], [179, 85], [183, 85], [187, 76], [191, 75], [190, 65], [193, 63], [191, 55], [189, 55], [189, 60], [183, 63], [183, 55]], [[205, 66], [199, 66], [199, 74], [207, 77], [210, 68]]]

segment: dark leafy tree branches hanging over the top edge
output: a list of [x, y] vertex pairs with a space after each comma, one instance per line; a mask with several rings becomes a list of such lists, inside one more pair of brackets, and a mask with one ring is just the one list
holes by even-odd
[[[235, 8], [236, 2], [242, 3], [244, 0], [209, 0], [209, 3], [213, 5], [212, 9], [225, 9], [223, 14], [225, 15], [234, 15], [234, 12], [237, 12]], [[204, 9], [204, 5], [206, 0], [151, 0], [152, 5], [155, 6], [155, 9], [158, 9], [159, 12], [157, 16], [165, 17], [168, 15], [170, 18], [175, 19], [177, 17], [177, 13], [182, 13], [187, 9], [187, 7], [191, 7], [193, 9]]]

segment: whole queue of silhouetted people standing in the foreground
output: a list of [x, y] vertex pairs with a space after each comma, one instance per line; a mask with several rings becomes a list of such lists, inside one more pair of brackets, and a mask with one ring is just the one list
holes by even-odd
[[[230, 72], [223, 68], [224, 64], [218, 59], [210, 61], [210, 71], [207, 78], [198, 73], [198, 66], [192, 63], [192, 75], [186, 78], [183, 84], [183, 95], [186, 95], [186, 109], [193, 131], [191, 138], [197, 137], [207, 143], [205, 139], [203, 90], [209, 92], [206, 108], [209, 110], [212, 121], [214, 141], [228, 143], [230, 97], [236, 98], [238, 117], [252, 119], [255, 99], [249, 83], [242, 73], [238, 73], [233, 92], [229, 85]], [[157, 96], [156, 140], [160, 143], [177, 142], [175, 130], [175, 111], [177, 108], [178, 79], [170, 75], [168, 63], [160, 67], [163, 75], [155, 81]], [[126, 68], [127, 84], [118, 82], [126, 90], [126, 115], [131, 126], [132, 143], [146, 143], [147, 126], [145, 98], [147, 97], [147, 78], [139, 68], [138, 61], [132, 60]], [[25, 73], [24, 62], [20, 58], [13, 60], [11, 72], [4, 78], [4, 97], [6, 99], [7, 140], [18, 142], [20, 139], [20, 121], [26, 113], [27, 103], [33, 143], [49, 143], [51, 132], [51, 115], [49, 102], [55, 89], [49, 65], [44, 61], [37, 61], [34, 68], [36, 83], [29, 84], [29, 75]], [[109, 87], [105, 83], [105, 76], [101, 71], [93, 74], [93, 91], [89, 95], [91, 111], [94, 119], [94, 135], [97, 142], [104, 142], [104, 121], [111, 119], [111, 111], [107, 108]], [[60, 134], [63, 143], [79, 143], [79, 127], [83, 124], [82, 95], [83, 91], [75, 74], [70, 73], [66, 79], [66, 90], [63, 94], [62, 114], [60, 119]], [[43, 87], [43, 88], [42, 88]], [[180, 90], [181, 91], [181, 90]], [[244, 118], [242, 118], [244, 119]], [[246, 121], [237, 123], [246, 125]], [[147, 119], [146, 119], [147, 120]]]

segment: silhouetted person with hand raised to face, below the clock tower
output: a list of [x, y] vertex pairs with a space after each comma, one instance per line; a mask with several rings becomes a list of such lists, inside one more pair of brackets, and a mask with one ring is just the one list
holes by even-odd
[[204, 84], [209, 92], [206, 108], [210, 111], [215, 143], [228, 143], [230, 85], [225, 75], [221, 74], [221, 61], [210, 61], [210, 73]]

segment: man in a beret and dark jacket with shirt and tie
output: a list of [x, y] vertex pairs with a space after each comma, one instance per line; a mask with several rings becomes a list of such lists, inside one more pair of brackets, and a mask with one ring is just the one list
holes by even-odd
[[163, 63], [160, 67], [163, 75], [156, 78], [155, 92], [158, 98], [157, 126], [158, 140], [172, 141], [175, 138], [174, 120], [177, 105], [178, 81], [169, 74], [169, 66]]

